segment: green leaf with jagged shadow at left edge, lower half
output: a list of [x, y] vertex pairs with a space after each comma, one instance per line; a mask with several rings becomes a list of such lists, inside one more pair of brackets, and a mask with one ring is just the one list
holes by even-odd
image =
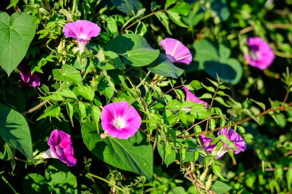
[[0, 104], [0, 136], [24, 156], [34, 160], [30, 130], [25, 118], [18, 112]]

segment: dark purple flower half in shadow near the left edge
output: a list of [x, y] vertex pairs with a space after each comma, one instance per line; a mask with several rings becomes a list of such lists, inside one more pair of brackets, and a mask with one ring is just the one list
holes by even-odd
[[27, 64], [21, 64], [18, 66], [19, 76], [22, 80], [22, 85], [37, 87], [40, 85], [38, 72], [34, 72], [33, 75], [30, 71], [30, 67]]

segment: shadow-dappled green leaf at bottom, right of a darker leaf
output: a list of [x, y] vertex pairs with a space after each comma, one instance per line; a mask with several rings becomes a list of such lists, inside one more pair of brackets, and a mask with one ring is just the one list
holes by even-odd
[[49, 165], [45, 177], [55, 194], [77, 194], [77, 180], [66, 164], [58, 162]]

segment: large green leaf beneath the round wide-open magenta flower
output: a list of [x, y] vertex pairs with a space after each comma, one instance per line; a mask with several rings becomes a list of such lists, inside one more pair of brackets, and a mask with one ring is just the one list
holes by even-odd
[[83, 141], [100, 160], [122, 170], [134, 172], [151, 180], [153, 173], [152, 146], [138, 131], [127, 140], [100, 138], [94, 123], [87, 121], [81, 127]]

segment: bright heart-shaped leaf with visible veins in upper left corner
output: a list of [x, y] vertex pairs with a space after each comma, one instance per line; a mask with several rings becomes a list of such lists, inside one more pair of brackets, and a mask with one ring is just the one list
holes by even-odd
[[20, 12], [9, 16], [0, 12], [0, 66], [8, 76], [21, 62], [36, 34], [32, 16]]

